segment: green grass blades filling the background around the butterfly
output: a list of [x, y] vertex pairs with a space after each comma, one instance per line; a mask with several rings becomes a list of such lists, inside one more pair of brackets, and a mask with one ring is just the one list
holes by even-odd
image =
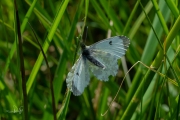
[[[20, 26], [16, 26], [14, 2], [4, 0], [0, 5], [0, 120], [50, 120], [55, 114], [58, 120], [180, 119], [178, 0], [142, 3], [140, 0], [17, 0]], [[107, 38], [109, 30], [111, 36], [125, 35], [131, 40], [125, 55], [128, 69], [141, 61], [158, 72], [136, 65], [110, 108], [127, 73], [121, 61], [116, 77], [101, 82], [92, 76], [84, 93], [74, 96], [65, 79], [78, 58], [78, 42], [85, 26], [89, 28], [87, 45]], [[16, 28], [23, 37], [22, 51]], [[24, 58], [27, 101], [22, 89], [20, 52]], [[54, 100], [45, 59], [53, 77]], [[22, 113], [13, 113], [21, 107]]]

